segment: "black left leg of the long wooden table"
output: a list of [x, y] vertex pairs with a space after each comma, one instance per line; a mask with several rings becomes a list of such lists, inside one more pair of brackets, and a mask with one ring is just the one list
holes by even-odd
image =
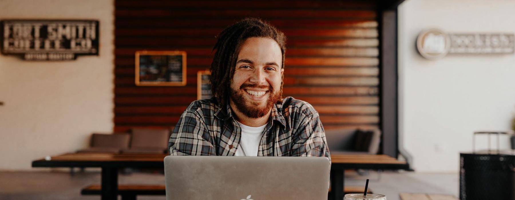
[[117, 199], [118, 168], [102, 167], [101, 196], [102, 200]]

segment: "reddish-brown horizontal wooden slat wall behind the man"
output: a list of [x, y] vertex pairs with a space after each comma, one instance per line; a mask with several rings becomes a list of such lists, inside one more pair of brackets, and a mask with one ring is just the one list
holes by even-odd
[[[287, 40], [284, 95], [313, 104], [326, 130], [377, 128], [379, 59], [375, 1], [115, 1], [115, 130], [170, 128], [196, 100], [215, 35], [247, 16]], [[185, 50], [186, 86], [138, 87], [136, 50]]]

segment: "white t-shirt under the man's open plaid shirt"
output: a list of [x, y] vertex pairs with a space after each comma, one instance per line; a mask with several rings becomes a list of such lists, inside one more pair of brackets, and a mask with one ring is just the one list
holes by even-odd
[[259, 143], [266, 124], [260, 127], [252, 127], [239, 123], [239, 121], [236, 122], [242, 128], [242, 138], [239, 140], [239, 147], [236, 149], [235, 156], [258, 156]]

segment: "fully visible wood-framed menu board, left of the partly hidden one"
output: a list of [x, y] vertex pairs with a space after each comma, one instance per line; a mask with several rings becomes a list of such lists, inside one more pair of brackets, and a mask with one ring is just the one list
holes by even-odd
[[186, 51], [136, 51], [138, 86], [186, 85]]

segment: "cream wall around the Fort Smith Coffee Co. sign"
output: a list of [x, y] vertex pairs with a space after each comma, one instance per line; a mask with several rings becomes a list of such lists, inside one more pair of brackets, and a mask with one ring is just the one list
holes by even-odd
[[24, 61], [0, 55], [0, 170], [87, 147], [92, 132], [113, 129], [114, 3], [0, 1], [3, 19], [99, 20], [99, 56]]

